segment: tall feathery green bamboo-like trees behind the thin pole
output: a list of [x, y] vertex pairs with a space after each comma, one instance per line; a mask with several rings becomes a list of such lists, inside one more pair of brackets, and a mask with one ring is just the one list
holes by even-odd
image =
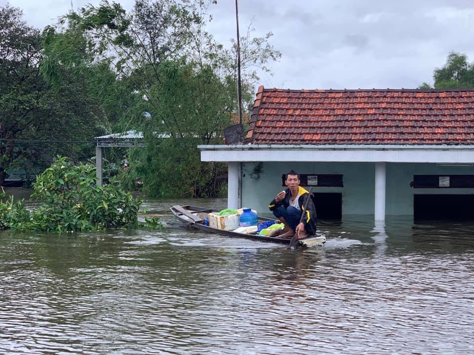
[[[143, 177], [152, 195], [215, 196], [227, 170], [201, 163], [197, 151], [197, 144], [221, 143], [237, 112], [235, 46], [225, 49], [205, 31], [209, 5], [136, 0], [127, 13], [104, 1], [70, 12], [43, 33], [49, 82], [61, 71], [100, 78], [91, 74], [100, 67], [115, 74], [114, 84], [99, 79], [94, 87], [102, 90], [102, 103], [115, 103], [120, 130], [144, 133], [147, 147], [131, 153], [129, 173]], [[241, 39], [246, 106], [257, 70], [269, 71], [268, 62], [280, 57], [268, 42], [271, 34], [251, 38], [251, 32]]]

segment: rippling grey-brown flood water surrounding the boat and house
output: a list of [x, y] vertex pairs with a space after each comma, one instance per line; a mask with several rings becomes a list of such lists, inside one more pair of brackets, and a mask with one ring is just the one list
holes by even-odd
[[474, 225], [320, 222], [321, 248], [0, 232], [1, 354], [473, 354]]

